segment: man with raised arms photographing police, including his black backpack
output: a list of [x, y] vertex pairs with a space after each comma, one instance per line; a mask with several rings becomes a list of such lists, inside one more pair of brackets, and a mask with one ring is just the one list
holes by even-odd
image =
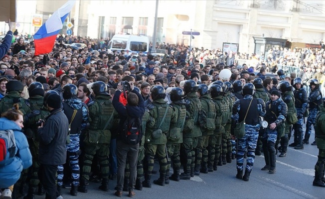
[[135, 89], [133, 84], [130, 84], [131, 91], [127, 96], [127, 105], [123, 105], [119, 101], [120, 95], [123, 92], [122, 83], [118, 84], [118, 90], [113, 98], [113, 106], [120, 116], [118, 137], [117, 137], [117, 191], [115, 195], [122, 197], [124, 184], [124, 170], [126, 162], [130, 165], [130, 183], [129, 197], [135, 197], [134, 187], [137, 177], [137, 158], [139, 151], [139, 142], [142, 139], [142, 117], [145, 114], [145, 101]]

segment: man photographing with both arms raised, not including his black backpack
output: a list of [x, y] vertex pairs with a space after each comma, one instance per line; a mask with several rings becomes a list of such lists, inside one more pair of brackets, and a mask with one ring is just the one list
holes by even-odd
[[[130, 183], [129, 183], [129, 197], [134, 197], [134, 186], [136, 184], [137, 177], [137, 158], [138, 158], [138, 150], [139, 143], [135, 145], [131, 145], [126, 143], [122, 136], [124, 134], [124, 122], [125, 120], [130, 118], [140, 118], [142, 120], [142, 116], [145, 113], [145, 105], [144, 100], [141, 97], [141, 94], [133, 89], [133, 85], [131, 85], [131, 92], [128, 94], [128, 104], [126, 106], [123, 105], [119, 101], [120, 95], [122, 93], [122, 84], [119, 83], [118, 90], [116, 91], [113, 98], [113, 106], [116, 111], [119, 113], [120, 122], [119, 122], [119, 136], [117, 137], [117, 160], [118, 160], [118, 171], [117, 171], [117, 192], [116, 196], [122, 196], [123, 183], [124, 183], [124, 169], [126, 165], [126, 161], [130, 164]], [[142, 133], [139, 134], [142, 136]], [[138, 139], [139, 140], [139, 139]], [[141, 140], [141, 138], [140, 138]]]

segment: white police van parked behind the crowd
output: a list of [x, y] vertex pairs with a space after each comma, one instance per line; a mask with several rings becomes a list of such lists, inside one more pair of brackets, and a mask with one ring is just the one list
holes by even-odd
[[131, 53], [139, 54], [139, 52], [148, 54], [149, 38], [141, 35], [116, 34], [109, 42], [108, 48], [111, 51], [125, 50], [125, 54], [127, 55]]

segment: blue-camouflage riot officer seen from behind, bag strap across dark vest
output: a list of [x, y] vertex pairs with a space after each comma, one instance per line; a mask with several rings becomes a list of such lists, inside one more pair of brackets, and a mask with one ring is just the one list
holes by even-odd
[[[243, 99], [237, 100], [232, 108], [231, 134], [234, 135], [234, 128], [237, 122], [245, 119], [245, 135], [237, 139], [237, 175], [236, 178], [249, 181], [255, 160], [255, 149], [260, 128], [259, 116], [265, 115], [265, 103], [262, 99], [254, 99], [255, 87], [253, 84], [245, 84], [242, 90]], [[246, 115], [250, 115], [246, 117]], [[246, 118], [245, 118], [246, 117]], [[246, 169], [243, 176], [244, 153], [247, 149]]]

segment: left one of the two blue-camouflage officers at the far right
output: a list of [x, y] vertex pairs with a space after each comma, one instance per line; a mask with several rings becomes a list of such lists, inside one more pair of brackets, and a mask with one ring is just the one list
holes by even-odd
[[295, 107], [297, 110], [297, 123], [294, 124], [294, 142], [289, 144], [291, 147], [295, 147], [295, 149], [304, 149], [303, 144], [303, 122], [305, 114], [307, 113], [308, 104], [308, 94], [307, 91], [303, 87], [303, 80], [298, 77], [294, 79], [294, 95], [295, 95]]

